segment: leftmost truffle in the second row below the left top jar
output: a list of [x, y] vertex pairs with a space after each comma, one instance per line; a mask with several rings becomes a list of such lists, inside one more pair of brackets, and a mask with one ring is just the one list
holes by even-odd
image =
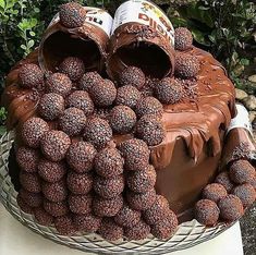
[[61, 95], [45, 94], [38, 105], [39, 114], [48, 121], [59, 118], [64, 111], [64, 98]]

